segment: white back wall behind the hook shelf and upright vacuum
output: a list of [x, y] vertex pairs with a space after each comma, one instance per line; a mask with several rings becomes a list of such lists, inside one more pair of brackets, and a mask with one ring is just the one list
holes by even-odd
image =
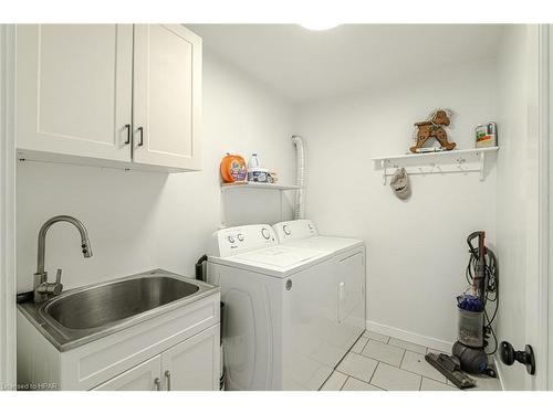
[[[372, 157], [404, 153], [413, 124], [451, 108], [451, 138], [472, 148], [474, 126], [497, 117], [495, 62], [474, 62], [312, 102], [299, 112], [307, 147], [307, 216], [322, 234], [367, 243], [368, 327], [447, 349], [456, 339], [455, 297], [462, 293], [466, 238], [495, 238], [495, 173], [413, 176], [413, 197], [396, 199]], [[493, 163], [493, 161], [492, 161]]]

